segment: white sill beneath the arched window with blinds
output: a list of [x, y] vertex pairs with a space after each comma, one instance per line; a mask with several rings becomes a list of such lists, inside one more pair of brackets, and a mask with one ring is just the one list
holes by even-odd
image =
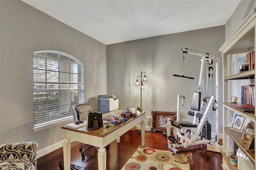
[[38, 132], [38, 131], [44, 130], [46, 128], [55, 127], [58, 125], [62, 125], [64, 123], [70, 123], [70, 121], [72, 121], [72, 120], [73, 120], [73, 116], [70, 116], [70, 117], [66, 117], [66, 118], [63, 118], [60, 120], [56, 120], [56, 121], [41, 123], [39, 125], [34, 125], [34, 128], [32, 130], [33, 130], [33, 132]]

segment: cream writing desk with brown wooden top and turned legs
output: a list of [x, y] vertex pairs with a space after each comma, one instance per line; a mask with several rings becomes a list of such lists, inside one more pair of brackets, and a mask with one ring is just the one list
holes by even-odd
[[[122, 110], [116, 110], [103, 115], [118, 115]], [[87, 129], [86, 127], [81, 128], [71, 128], [62, 127], [63, 137], [63, 156], [64, 156], [64, 170], [70, 170], [70, 154], [71, 154], [71, 142], [70, 140], [75, 140], [81, 143], [90, 144], [92, 146], [97, 146], [98, 150], [98, 169], [106, 170], [106, 148], [108, 144], [120, 139], [122, 134], [126, 133], [132, 127], [136, 126], [138, 123], [141, 125], [141, 144], [145, 144], [145, 112], [138, 114], [137, 117], [132, 117], [124, 123], [120, 123], [114, 127], [103, 128], [98, 130]]]

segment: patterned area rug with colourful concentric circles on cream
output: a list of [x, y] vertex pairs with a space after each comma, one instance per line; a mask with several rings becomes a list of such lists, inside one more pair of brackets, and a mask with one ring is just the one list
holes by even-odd
[[189, 170], [189, 156], [140, 145], [121, 170]]

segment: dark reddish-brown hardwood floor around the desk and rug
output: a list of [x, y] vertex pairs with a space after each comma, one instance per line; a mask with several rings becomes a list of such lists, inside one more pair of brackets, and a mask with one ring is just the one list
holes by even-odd
[[[133, 130], [120, 136], [120, 143], [117, 143], [116, 140], [110, 143], [107, 149], [107, 170], [120, 170], [140, 144], [140, 134]], [[86, 167], [88, 170], [98, 170], [96, 148], [87, 150], [83, 160], [81, 152], [79, 152], [80, 145], [80, 142], [71, 143], [71, 164]], [[161, 133], [149, 131], [146, 131], [145, 134], [145, 146], [170, 150], [167, 146], [167, 139]], [[188, 146], [188, 148], [183, 148], [180, 153], [189, 155], [190, 170], [222, 170], [222, 155], [207, 151], [205, 144]], [[38, 158], [37, 170], [59, 170], [58, 161], [63, 161], [63, 148]]]

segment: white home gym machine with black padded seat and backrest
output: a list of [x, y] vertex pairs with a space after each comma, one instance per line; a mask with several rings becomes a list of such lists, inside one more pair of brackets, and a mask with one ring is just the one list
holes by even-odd
[[[201, 59], [201, 68], [200, 68], [200, 76], [199, 76], [199, 84], [198, 84], [198, 91], [195, 91], [192, 97], [191, 102], [191, 109], [194, 112], [189, 111], [188, 114], [193, 116], [193, 123], [187, 121], [180, 121], [180, 111], [179, 111], [179, 101], [180, 97], [183, 97], [182, 105], [184, 105], [185, 97], [182, 95], [178, 95], [177, 99], [177, 121], [172, 121], [171, 119], [167, 120], [166, 130], [167, 132], [163, 132], [163, 135], [166, 136], [168, 140], [168, 148], [170, 148], [173, 152], [179, 153], [176, 149], [178, 147], [187, 148], [188, 146], [197, 145], [197, 144], [211, 144], [211, 146], [207, 146], [208, 150], [220, 152], [220, 145], [219, 145], [219, 127], [218, 127], [218, 57], [210, 55], [208, 53], [182, 48], [180, 51], [183, 53], [182, 56], [184, 57], [184, 53], [190, 53], [194, 55], [199, 55], [202, 57]], [[205, 70], [205, 63], [208, 62], [209, 65], [212, 65], [215, 61], [215, 96], [212, 95], [210, 97], [204, 97], [201, 104], [201, 96], [202, 96], [202, 85], [203, 85], [203, 77], [204, 77], [204, 70]], [[213, 77], [213, 67], [208, 67], [208, 78]], [[176, 75], [174, 75], [176, 76]], [[182, 76], [179, 76], [182, 77]], [[186, 78], [186, 77], [185, 77]], [[207, 78], [207, 85], [208, 86], [208, 78]], [[208, 91], [208, 89], [207, 89]], [[200, 106], [201, 105], [201, 106]], [[203, 114], [200, 114], [200, 110], [203, 110]], [[210, 111], [215, 111], [215, 138], [209, 138], [208, 135], [204, 134], [204, 126], [207, 128], [207, 117]], [[199, 125], [197, 125], [196, 120], [199, 119]], [[174, 128], [173, 136], [171, 136], [170, 129]], [[203, 129], [203, 130], [202, 130]], [[210, 131], [211, 133], [211, 131]]]

